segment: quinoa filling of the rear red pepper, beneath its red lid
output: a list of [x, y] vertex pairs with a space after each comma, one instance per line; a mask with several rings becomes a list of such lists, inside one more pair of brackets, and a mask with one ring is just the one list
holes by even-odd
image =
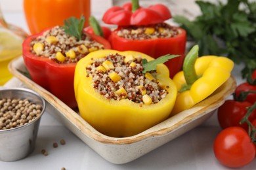
[[173, 27], [166, 23], [154, 24], [154, 25], [129, 25], [121, 27], [117, 31], [119, 37], [124, 39], [167, 39], [175, 37], [180, 34], [177, 27]]

